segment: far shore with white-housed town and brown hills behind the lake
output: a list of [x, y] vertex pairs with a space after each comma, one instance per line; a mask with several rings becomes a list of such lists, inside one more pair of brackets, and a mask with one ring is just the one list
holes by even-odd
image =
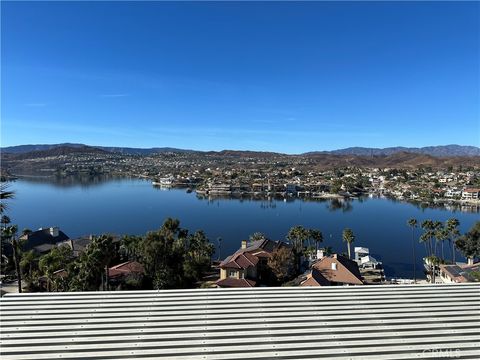
[[[364, 155], [368, 152], [371, 155]], [[183, 187], [199, 196], [324, 199], [378, 195], [477, 212], [479, 153], [478, 147], [459, 145], [349, 148], [302, 155], [24, 145], [3, 148], [1, 170], [4, 179], [136, 177], [149, 179], [154, 186]]]

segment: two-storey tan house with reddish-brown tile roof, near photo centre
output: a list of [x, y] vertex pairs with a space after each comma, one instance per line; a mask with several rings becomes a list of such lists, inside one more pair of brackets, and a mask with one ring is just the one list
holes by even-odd
[[262, 278], [262, 268], [266, 266], [270, 254], [275, 250], [289, 246], [281, 241], [259, 240], [242, 247], [220, 263], [219, 287], [254, 287]]

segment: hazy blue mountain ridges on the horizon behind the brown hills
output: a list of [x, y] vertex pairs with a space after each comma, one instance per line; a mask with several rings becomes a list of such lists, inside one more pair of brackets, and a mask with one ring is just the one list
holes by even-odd
[[[72, 144], [72, 143], [63, 143], [63, 144], [40, 144], [40, 145], [18, 145], [18, 146], [9, 146], [1, 148], [2, 152], [10, 154], [24, 154], [32, 151], [45, 151], [52, 149], [64, 149], [66, 148], [76, 148], [82, 152], [85, 151], [108, 151], [122, 154], [131, 154], [131, 155], [150, 155], [155, 153], [165, 153], [165, 152], [181, 152], [181, 153], [209, 153], [209, 154], [221, 154], [221, 155], [238, 155], [239, 153], [262, 153], [262, 152], [250, 152], [250, 151], [234, 151], [234, 150], [223, 150], [221, 152], [204, 152], [204, 151], [195, 151], [195, 150], [185, 150], [177, 149], [170, 147], [155, 147], [155, 148], [130, 148], [130, 147], [109, 147], [109, 146], [87, 146], [84, 144]], [[54, 152], [55, 153], [55, 152]], [[332, 154], [332, 155], [354, 155], [354, 156], [390, 156], [397, 153], [415, 153], [422, 155], [430, 155], [435, 157], [456, 157], [456, 156], [480, 156], [480, 148], [476, 146], [462, 146], [462, 145], [441, 145], [441, 146], [427, 146], [421, 148], [415, 147], [389, 147], [389, 148], [365, 148], [365, 147], [350, 147], [346, 149], [332, 150], [332, 151], [313, 151], [307, 152], [301, 155], [305, 156], [315, 156], [319, 154]], [[268, 154], [265, 152], [264, 154]], [[273, 153], [270, 153], [273, 154]]]

